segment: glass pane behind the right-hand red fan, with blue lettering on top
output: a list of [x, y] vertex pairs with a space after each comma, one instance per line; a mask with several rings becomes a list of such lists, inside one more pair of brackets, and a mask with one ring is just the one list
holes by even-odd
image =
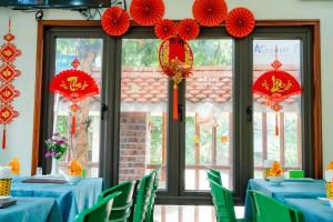
[[[291, 73], [301, 83], [300, 40], [254, 40], [253, 82], [273, 70], [271, 63], [275, 54], [282, 63], [280, 70]], [[283, 107], [280, 112], [268, 107], [262, 97], [254, 94], [253, 98], [254, 178], [263, 176], [264, 160], [279, 161], [285, 171], [302, 169], [301, 95], [280, 102]]]

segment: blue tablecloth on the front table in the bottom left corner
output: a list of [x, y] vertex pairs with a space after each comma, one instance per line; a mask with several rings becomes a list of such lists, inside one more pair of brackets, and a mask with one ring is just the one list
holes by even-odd
[[17, 204], [0, 209], [3, 222], [62, 222], [61, 213], [54, 199], [16, 198]]

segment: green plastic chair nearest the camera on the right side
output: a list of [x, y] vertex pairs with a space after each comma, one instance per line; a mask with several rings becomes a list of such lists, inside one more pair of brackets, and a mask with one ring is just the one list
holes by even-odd
[[262, 193], [252, 191], [259, 221], [265, 222], [304, 222], [301, 211], [290, 208]]

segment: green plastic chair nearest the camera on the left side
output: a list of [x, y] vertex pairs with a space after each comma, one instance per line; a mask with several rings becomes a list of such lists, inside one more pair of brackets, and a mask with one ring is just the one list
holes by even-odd
[[75, 222], [108, 222], [112, 210], [113, 200], [120, 195], [121, 192], [115, 192], [99, 201], [92, 208], [87, 209], [79, 213]]

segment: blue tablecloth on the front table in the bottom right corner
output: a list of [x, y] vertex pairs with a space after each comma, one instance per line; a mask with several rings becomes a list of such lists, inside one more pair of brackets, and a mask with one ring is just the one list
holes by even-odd
[[306, 222], [332, 222], [333, 209], [317, 199], [285, 199], [284, 202], [303, 212]]

